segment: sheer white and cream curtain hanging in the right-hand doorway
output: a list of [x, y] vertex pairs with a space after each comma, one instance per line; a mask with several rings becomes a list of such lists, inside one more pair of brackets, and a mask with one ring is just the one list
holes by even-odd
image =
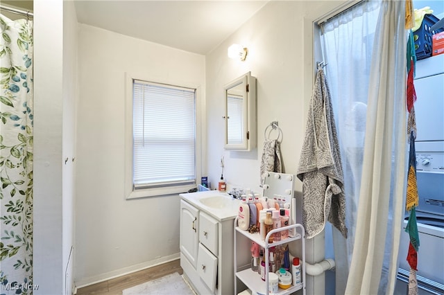
[[348, 240], [333, 229], [336, 294], [393, 293], [407, 167], [404, 5], [362, 1], [323, 25], [349, 229]]

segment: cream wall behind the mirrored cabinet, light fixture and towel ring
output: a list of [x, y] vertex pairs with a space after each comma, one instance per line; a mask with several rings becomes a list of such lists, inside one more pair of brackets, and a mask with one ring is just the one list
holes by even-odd
[[[313, 21], [343, 2], [271, 1], [207, 55], [207, 171], [213, 187], [221, 175], [223, 156], [229, 187], [262, 191], [259, 167], [264, 130], [273, 120], [278, 120], [283, 132], [284, 172], [296, 174], [315, 74]], [[248, 47], [246, 62], [227, 57], [227, 48], [233, 43]], [[225, 151], [223, 85], [247, 71], [257, 78], [257, 149]], [[296, 190], [296, 195], [302, 194], [299, 180]], [[323, 244], [323, 234], [307, 241], [307, 262], [323, 260]], [[307, 294], [324, 294], [323, 279], [307, 277]]]

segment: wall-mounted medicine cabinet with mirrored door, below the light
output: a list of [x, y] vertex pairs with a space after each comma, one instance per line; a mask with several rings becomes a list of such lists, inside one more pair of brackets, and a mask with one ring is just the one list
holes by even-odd
[[256, 78], [251, 72], [225, 85], [225, 150], [256, 147]]

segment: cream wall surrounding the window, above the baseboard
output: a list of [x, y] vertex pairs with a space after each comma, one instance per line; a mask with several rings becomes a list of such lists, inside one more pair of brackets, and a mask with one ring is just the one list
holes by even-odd
[[205, 57], [78, 28], [75, 280], [81, 287], [179, 257], [178, 195], [125, 199], [125, 73], [205, 89]]

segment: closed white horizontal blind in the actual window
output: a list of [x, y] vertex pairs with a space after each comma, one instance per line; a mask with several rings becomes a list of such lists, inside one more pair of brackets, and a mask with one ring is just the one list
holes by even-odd
[[133, 80], [133, 186], [196, 183], [196, 90]]

